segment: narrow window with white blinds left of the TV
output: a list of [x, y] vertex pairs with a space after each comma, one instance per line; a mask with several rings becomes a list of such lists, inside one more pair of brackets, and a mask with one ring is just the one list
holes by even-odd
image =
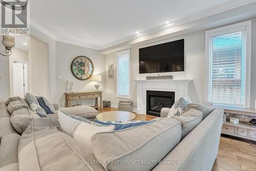
[[116, 96], [121, 98], [130, 98], [130, 50], [117, 52], [116, 61]]

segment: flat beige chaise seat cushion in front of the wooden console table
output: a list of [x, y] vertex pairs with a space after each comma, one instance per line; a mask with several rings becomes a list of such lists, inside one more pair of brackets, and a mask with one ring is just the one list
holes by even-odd
[[76, 115], [87, 119], [96, 118], [96, 116], [99, 114], [96, 109], [87, 105], [74, 106], [71, 108], [62, 108], [61, 111], [68, 115]]

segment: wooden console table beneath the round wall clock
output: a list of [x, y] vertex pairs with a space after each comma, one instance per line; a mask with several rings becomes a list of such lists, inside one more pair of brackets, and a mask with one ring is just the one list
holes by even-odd
[[[88, 92], [74, 92], [65, 93], [66, 95], [66, 108], [72, 107], [72, 101], [96, 98], [95, 105], [92, 108], [102, 108], [102, 91], [88, 91]], [[98, 105], [98, 98], [100, 98], [100, 106]]]

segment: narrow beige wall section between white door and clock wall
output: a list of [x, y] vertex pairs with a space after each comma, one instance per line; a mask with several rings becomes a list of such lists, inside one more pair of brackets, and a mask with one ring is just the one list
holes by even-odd
[[28, 43], [29, 92], [49, 98], [48, 45], [35, 38]]

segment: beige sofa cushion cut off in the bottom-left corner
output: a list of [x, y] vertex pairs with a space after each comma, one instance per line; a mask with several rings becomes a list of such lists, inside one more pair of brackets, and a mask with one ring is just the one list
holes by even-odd
[[18, 143], [20, 135], [9, 134], [1, 138], [0, 170], [15, 171], [18, 168]]

